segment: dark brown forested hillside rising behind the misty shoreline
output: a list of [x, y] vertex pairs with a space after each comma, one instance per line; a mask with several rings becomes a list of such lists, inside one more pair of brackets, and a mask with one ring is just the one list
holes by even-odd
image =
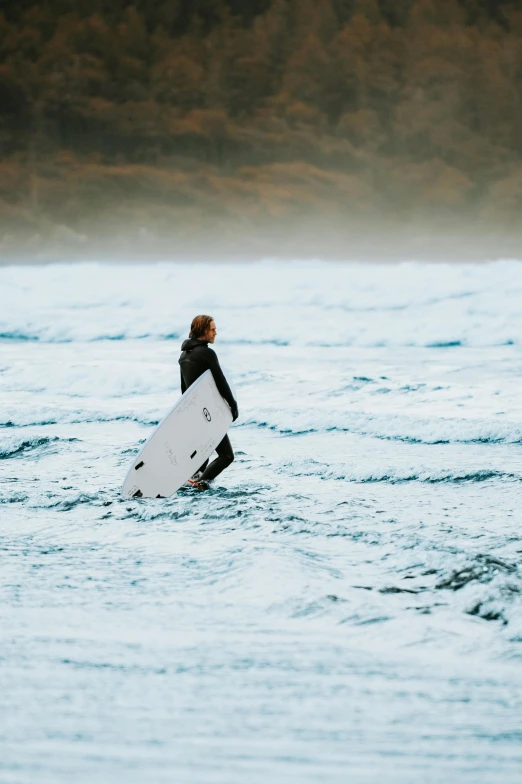
[[0, 0], [0, 248], [521, 205], [519, 0]]

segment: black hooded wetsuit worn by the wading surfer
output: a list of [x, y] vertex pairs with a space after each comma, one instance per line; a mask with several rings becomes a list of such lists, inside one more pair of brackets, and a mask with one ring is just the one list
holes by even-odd
[[[230, 406], [235, 421], [238, 417], [237, 403], [223, 375], [216, 352], [209, 348], [206, 340], [196, 340], [195, 338], [185, 340], [181, 346], [181, 352], [179, 358], [181, 392], [185, 392], [206, 370], [211, 370], [218, 391]], [[217, 445], [216, 452], [217, 458], [210, 465], [206, 460], [199, 469], [203, 472], [199, 477], [201, 481], [210, 482], [211, 479], [215, 479], [234, 460], [234, 452], [228, 436], [225, 436]]]

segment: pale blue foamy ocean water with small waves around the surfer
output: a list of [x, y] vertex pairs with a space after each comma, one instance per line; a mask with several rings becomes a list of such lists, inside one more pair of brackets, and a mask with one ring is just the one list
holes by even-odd
[[[0, 268], [0, 781], [522, 780], [522, 264]], [[124, 501], [191, 318], [207, 493]]]

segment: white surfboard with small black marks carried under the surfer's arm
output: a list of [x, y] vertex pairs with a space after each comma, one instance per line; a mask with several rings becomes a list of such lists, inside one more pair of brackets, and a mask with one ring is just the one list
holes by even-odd
[[206, 370], [157, 426], [127, 473], [124, 498], [167, 498], [210, 457], [232, 424], [230, 406]]

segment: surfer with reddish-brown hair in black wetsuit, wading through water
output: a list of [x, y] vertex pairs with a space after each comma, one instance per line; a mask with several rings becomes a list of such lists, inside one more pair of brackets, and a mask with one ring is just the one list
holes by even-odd
[[[230, 406], [235, 422], [239, 416], [237, 403], [223, 375], [216, 352], [209, 348], [209, 343], [214, 343], [216, 335], [216, 323], [212, 316], [196, 316], [192, 320], [189, 338], [183, 342], [179, 358], [181, 392], [183, 394], [206, 370], [211, 370], [218, 391]], [[208, 483], [233, 462], [234, 452], [228, 436], [220, 441], [216, 452], [217, 458], [210, 465], [206, 460], [193, 478], [189, 479], [191, 484], [201, 490], [206, 490]]]

